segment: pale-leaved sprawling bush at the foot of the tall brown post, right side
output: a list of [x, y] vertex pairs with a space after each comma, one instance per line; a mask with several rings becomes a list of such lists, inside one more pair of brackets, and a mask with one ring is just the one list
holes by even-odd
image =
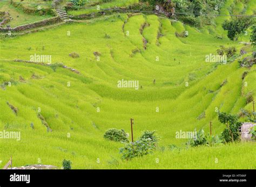
[[145, 130], [138, 140], [126, 143], [125, 147], [119, 149], [122, 158], [130, 160], [133, 157], [141, 157], [153, 153], [159, 140], [159, 137], [154, 133], [155, 131]]

